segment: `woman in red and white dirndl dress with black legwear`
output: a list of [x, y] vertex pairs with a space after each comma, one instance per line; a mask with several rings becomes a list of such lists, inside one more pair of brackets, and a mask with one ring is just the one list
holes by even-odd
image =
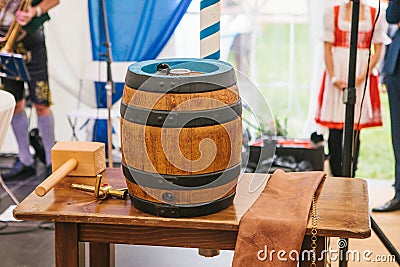
[[[351, 34], [352, 2], [345, 1], [340, 5], [325, 11], [324, 23], [324, 61], [325, 72], [318, 97], [315, 121], [329, 129], [328, 150], [329, 162], [333, 176], [342, 176], [343, 154], [343, 127], [346, 105], [343, 103], [343, 90], [347, 87], [348, 59]], [[355, 148], [353, 157], [353, 176], [357, 170], [357, 160], [360, 148], [359, 131], [362, 128], [381, 126], [379, 79], [374, 75], [374, 68], [381, 59], [382, 46], [386, 37], [387, 23], [383, 16], [379, 16], [372, 36], [372, 54], [369, 69], [369, 40], [372, 27], [377, 16], [377, 10], [363, 2], [360, 3], [359, 33], [356, 66], [356, 103], [355, 103]], [[366, 74], [367, 90], [361, 110], [361, 100], [364, 94]]]

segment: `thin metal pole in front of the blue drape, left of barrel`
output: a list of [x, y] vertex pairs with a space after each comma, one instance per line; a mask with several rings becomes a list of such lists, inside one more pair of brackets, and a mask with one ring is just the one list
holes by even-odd
[[106, 47], [106, 61], [107, 61], [107, 82], [106, 82], [106, 93], [107, 93], [107, 111], [108, 111], [108, 119], [107, 119], [107, 149], [108, 149], [108, 167], [112, 168], [113, 156], [112, 156], [112, 126], [111, 126], [111, 107], [112, 107], [112, 94], [115, 93], [114, 83], [112, 80], [112, 71], [111, 71], [111, 42], [110, 35], [108, 31], [108, 23], [107, 23], [107, 9], [105, 0], [101, 1], [101, 9], [103, 14], [103, 22], [104, 22], [104, 34], [105, 34], [105, 42], [104, 46]]

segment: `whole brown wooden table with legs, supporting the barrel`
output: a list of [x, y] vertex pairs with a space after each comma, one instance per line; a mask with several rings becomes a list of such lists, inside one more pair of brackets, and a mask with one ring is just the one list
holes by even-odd
[[[119, 168], [107, 169], [103, 177], [114, 188], [126, 186]], [[97, 200], [90, 193], [70, 188], [72, 183], [94, 184], [94, 178], [66, 177], [44, 197], [30, 194], [15, 208], [14, 217], [55, 223], [59, 267], [79, 266], [84, 256], [80, 242], [90, 242], [91, 266], [114, 264], [110, 244], [234, 250], [240, 218], [264, 188], [265, 178], [265, 174], [244, 174], [234, 204], [219, 213], [174, 219], [140, 212], [130, 200]], [[317, 214], [318, 250], [325, 249], [326, 237], [370, 237], [366, 181], [327, 178], [318, 192]], [[307, 234], [310, 230], [309, 222]], [[304, 239], [303, 249], [310, 249], [309, 238]], [[309, 262], [301, 264], [306, 265]]]

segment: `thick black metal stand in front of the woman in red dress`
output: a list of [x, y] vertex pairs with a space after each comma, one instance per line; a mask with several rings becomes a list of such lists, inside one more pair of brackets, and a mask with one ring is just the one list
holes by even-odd
[[[343, 135], [343, 177], [353, 177], [353, 157], [354, 157], [354, 106], [356, 103], [356, 62], [357, 62], [357, 43], [358, 43], [358, 21], [360, 13], [360, 0], [352, 0], [351, 35], [350, 35], [350, 55], [349, 55], [349, 76], [347, 88], [343, 92], [343, 103], [346, 104], [346, 114]], [[386, 249], [395, 256], [396, 262], [400, 264], [399, 252], [394, 248], [389, 239], [379, 228], [375, 220], [370, 216], [372, 230], [385, 245]], [[340, 248], [339, 266], [347, 267], [348, 239], [344, 239], [347, 246]]]

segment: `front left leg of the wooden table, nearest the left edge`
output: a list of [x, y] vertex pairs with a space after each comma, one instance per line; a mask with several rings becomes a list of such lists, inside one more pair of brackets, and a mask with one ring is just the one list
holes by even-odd
[[78, 267], [78, 225], [55, 223], [56, 267]]

